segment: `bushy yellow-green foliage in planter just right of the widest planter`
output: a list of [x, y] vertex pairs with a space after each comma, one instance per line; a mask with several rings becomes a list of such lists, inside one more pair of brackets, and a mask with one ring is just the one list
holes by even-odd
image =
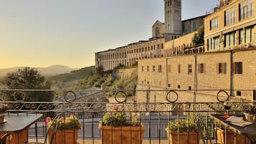
[[193, 120], [184, 120], [184, 119], [176, 119], [174, 122], [169, 122], [169, 125], [167, 127], [167, 130], [171, 131], [177, 131], [179, 129], [179, 132], [185, 132], [187, 130], [189, 131], [196, 131], [196, 124]]

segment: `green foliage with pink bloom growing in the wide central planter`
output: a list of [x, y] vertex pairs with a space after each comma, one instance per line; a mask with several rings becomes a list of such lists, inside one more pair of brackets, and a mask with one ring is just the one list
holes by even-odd
[[118, 106], [113, 107], [113, 112], [107, 112], [103, 116], [103, 125], [108, 126], [141, 126], [140, 113], [122, 112]]

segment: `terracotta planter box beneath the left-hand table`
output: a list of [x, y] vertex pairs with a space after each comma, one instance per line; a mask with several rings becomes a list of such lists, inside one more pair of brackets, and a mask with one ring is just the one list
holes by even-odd
[[[5, 133], [0, 133], [0, 137], [3, 136]], [[11, 133], [6, 138], [6, 144], [19, 144], [19, 143], [26, 143], [29, 137], [29, 128], [26, 128], [18, 133]]]

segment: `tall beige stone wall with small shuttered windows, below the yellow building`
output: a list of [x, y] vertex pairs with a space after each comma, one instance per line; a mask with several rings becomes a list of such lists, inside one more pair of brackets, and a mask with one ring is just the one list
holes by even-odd
[[[141, 91], [136, 93], [137, 102], [166, 102], [169, 90], [176, 90], [178, 102], [216, 102], [219, 90], [226, 90], [235, 101], [253, 100], [255, 53], [256, 49], [240, 49], [140, 60], [137, 90]], [[242, 62], [242, 74], [232, 72], [235, 62]], [[158, 72], [158, 65], [162, 67], [161, 72]], [[150, 94], [146, 95], [145, 90], [151, 90]], [[224, 92], [219, 95], [226, 96]]]

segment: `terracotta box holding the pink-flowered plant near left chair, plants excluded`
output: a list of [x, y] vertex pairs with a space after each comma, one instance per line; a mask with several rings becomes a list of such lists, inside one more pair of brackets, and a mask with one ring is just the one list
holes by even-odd
[[[76, 144], [77, 143], [77, 132], [78, 130], [57, 130], [54, 135], [52, 144]], [[49, 131], [50, 141], [52, 138], [52, 130]]]

